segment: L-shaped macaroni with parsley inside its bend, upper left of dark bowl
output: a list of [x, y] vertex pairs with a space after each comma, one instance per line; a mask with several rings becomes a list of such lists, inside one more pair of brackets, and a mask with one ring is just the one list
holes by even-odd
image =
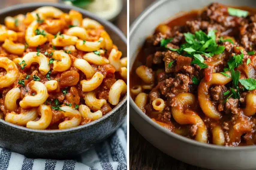
[[39, 24], [35, 20], [27, 28], [25, 39], [29, 47], [37, 47], [38, 45], [43, 45], [48, 39], [43, 35], [36, 35], [35, 30], [38, 28]]

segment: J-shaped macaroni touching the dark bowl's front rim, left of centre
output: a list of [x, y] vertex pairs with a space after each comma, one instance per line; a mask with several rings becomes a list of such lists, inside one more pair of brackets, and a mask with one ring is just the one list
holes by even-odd
[[38, 108], [41, 118], [37, 121], [27, 122], [27, 128], [31, 129], [46, 129], [52, 121], [52, 109], [47, 105], [40, 105]]

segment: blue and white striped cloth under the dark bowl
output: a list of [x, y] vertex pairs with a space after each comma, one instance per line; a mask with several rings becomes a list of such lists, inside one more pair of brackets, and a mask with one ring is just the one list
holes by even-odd
[[0, 170], [127, 170], [127, 123], [74, 160], [30, 159], [0, 148]]

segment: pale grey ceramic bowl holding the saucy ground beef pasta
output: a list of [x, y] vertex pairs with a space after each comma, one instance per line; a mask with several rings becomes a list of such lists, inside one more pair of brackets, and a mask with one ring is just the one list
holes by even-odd
[[[181, 11], [200, 9], [211, 2], [232, 6], [256, 7], [254, 0], [159, 0], [148, 7], [132, 24], [130, 29], [130, 68], [147, 36], [156, 26]], [[130, 121], [138, 132], [164, 153], [183, 162], [208, 169], [255, 170], [256, 146], [225, 147], [199, 143], [175, 134], [145, 115], [130, 101]], [[171, 167], [170, 167], [171, 169]]]

